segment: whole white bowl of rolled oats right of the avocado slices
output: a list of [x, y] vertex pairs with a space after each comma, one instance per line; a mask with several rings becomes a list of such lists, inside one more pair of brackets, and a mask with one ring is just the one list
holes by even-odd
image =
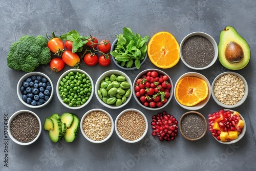
[[112, 136], [114, 121], [108, 112], [102, 109], [92, 109], [83, 115], [80, 129], [88, 141], [102, 143]]

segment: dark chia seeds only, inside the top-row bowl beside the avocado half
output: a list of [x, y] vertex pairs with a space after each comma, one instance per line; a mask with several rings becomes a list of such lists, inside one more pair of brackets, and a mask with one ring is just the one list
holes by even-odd
[[182, 46], [185, 62], [195, 68], [203, 68], [214, 59], [214, 46], [204, 36], [191, 36]]

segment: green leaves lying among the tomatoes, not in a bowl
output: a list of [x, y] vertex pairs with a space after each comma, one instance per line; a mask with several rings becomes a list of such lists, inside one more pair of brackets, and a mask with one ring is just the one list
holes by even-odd
[[70, 40], [72, 44], [72, 53], [81, 52], [83, 46], [86, 45], [88, 41], [88, 36], [80, 36], [76, 30], [69, 31], [66, 34], [59, 36], [61, 40]]

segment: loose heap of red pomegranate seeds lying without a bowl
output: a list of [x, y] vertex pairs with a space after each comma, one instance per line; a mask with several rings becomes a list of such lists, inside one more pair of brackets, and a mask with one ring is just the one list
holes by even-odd
[[152, 116], [151, 127], [152, 135], [158, 137], [160, 141], [172, 141], [178, 133], [178, 121], [166, 111]]

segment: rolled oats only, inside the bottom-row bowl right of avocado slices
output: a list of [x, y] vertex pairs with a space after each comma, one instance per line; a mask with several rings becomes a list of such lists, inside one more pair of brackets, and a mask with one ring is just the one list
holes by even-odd
[[111, 132], [110, 117], [102, 111], [89, 113], [82, 122], [82, 129], [86, 136], [94, 141], [101, 141]]

